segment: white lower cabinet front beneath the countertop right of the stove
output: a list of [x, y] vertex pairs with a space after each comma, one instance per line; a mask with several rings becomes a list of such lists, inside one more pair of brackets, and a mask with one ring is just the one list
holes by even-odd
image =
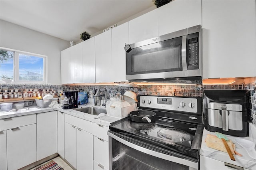
[[[201, 170], [236, 170], [236, 169], [238, 170], [238, 169], [242, 169], [242, 167], [236, 166], [233, 164], [225, 164], [225, 162], [221, 162], [219, 160], [215, 160], [215, 159], [200, 155], [200, 169]], [[244, 168], [244, 170], [248, 170], [248, 169]]]

